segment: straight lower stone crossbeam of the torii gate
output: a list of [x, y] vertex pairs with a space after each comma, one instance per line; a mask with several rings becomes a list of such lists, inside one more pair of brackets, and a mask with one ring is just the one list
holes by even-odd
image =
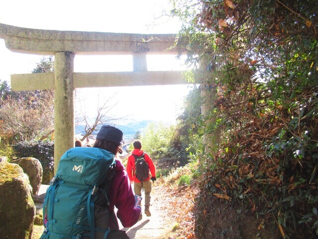
[[[157, 86], [187, 84], [183, 71], [75, 72], [74, 88]], [[13, 74], [14, 91], [33, 91], [54, 88], [54, 73]]]

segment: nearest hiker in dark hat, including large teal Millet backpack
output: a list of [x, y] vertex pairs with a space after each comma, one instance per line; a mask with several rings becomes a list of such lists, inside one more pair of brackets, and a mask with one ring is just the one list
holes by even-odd
[[129, 239], [117, 218], [123, 227], [132, 227], [141, 201], [135, 200], [127, 172], [115, 157], [122, 144], [123, 132], [103, 125], [93, 147], [63, 154], [46, 192], [41, 239]]

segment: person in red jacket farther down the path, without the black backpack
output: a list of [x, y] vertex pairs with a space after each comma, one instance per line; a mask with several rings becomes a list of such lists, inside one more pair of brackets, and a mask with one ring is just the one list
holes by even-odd
[[[150, 179], [154, 182], [156, 181], [156, 167], [153, 163], [153, 160], [151, 159], [151, 157], [149, 156], [148, 153], [144, 153], [143, 150], [141, 150], [141, 141], [139, 140], [135, 140], [134, 143], [134, 151], [132, 152], [132, 154], [128, 157], [128, 162], [127, 162], [127, 173], [128, 173], [128, 177], [132, 182], [134, 182], [134, 191], [135, 194], [138, 196], [141, 196], [141, 191], [144, 188], [145, 191], [145, 214], [147, 217], [151, 216], [150, 213], [150, 193], [151, 193], [151, 181]], [[144, 158], [146, 163], [149, 166], [149, 171], [150, 171], [150, 175], [148, 176], [148, 178], [144, 179], [142, 182], [139, 181], [136, 177], [136, 167], [135, 167], [135, 157], [136, 156], [141, 156], [144, 154]], [[142, 214], [140, 214], [140, 219], [142, 218]]]

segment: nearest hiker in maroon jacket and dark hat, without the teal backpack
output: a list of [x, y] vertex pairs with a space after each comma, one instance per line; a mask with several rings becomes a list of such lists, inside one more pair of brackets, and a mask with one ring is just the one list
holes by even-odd
[[[122, 152], [122, 144], [123, 132], [116, 127], [103, 125], [97, 133], [93, 147], [102, 148], [117, 155], [117, 153]], [[103, 188], [103, 185], [100, 185], [100, 187]], [[108, 207], [110, 229], [119, 229], [117, 218], [125, 228], [136, 224], [141, 214], [141, 201], [138, 199], [136, 202], [127, 172], [117, 158], [116, 172], [111, 180], [109, 190], [107, 188], [104, 188], [104, 190], [109, 192], [108, 199], [110, 204], [107, 205], [105, 200], [98, 200], [100, 198], [104, 199], [104, 197], [98, 198], [95, 203], [98, 206]], [[117, 208], [117, 218], [114, 207]]]

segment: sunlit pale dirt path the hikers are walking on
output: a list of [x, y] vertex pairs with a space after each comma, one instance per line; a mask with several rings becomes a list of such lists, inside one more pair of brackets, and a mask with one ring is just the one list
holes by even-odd
[[[47, 185], [42, 185], [38, 195], [45, 193], [46, 188]], [[165, 200], [166, 196], [164, 188], [155, 184], [151, 192], [150, 211], [152, 216], [147, 217], [143, 213], [143, 219], [138, 221], [133, 227], [123, 228], [120, 225], [120, 229], [125, 230], [130, 239], [174, 239], [174, 233], [172, 232], [174, 222], [167, 216], [167, 209], [165, 207], [167, 203], [167, 200]], [[39, 239], [43, 230], [43, 226], [35, 226], [32, 239]]]

